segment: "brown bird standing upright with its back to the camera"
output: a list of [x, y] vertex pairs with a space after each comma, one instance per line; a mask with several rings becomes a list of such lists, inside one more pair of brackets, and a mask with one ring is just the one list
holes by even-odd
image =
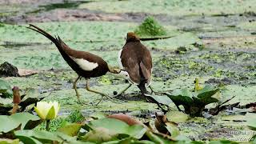
[[129, 74], [126, 79], [130, 82], [130, 85], [120, 94], [124, 93], [132, 84], [137, 85], [142, 94], [147, 94], [146, 87], [150, 86], [152, 74], [150, 50], [142, 45], [138, 36], [129, 32], [126, 36], [126, 44], [118, 55], [119, 65]]

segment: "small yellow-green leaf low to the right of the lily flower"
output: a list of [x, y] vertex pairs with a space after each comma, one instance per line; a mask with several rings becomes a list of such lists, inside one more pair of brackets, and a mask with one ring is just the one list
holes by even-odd
[[71, 137], [77, 136], [79, 130], [81, 129], [81, 124], [78, 123], [72, 123], [70, 125], [67, 126], [63, 126], [61, 128], [58, 129], [59, 132], [62, 132], [64, 134], [67, 134]]

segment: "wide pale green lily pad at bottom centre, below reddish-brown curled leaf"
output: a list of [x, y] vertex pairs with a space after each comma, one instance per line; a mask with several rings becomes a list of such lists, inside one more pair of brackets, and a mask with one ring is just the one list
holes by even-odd
[[130, 137], [142, 138], [146, 132], [146, 128], [141, 125], [129, 126], [126, 122], [122, 122], [114, 118], [102, 118], [94, 121], [90, 121], [87, 126], [90, 126], [93, 130], [97, 127], [102, 127], [110, 132], [117, 134], [127, 134]]

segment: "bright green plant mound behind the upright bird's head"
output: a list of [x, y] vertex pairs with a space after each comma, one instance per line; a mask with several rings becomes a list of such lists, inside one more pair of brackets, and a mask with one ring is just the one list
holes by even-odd
[[166, 29], [153, 17], [147, 17], [140, 26], [135, 29], [135, 34], [140, 37], [166, 35]]

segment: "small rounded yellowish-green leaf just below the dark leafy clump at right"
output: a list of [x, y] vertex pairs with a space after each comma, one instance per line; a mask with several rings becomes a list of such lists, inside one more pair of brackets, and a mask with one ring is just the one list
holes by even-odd
[[169, 122], [186, 122], [189, 118], [189, 115], [182, 113], [181, 111], [168, 111], [166, 113], [166, 118]]

